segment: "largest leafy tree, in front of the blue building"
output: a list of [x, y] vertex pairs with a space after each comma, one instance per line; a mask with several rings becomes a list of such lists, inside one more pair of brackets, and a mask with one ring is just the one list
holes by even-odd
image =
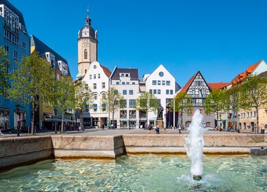
[[55, 81], [55, 70], [47, 60], [44, 60], [36, 52], [29, 57], [23, 57], [18, 62], [18, 68], [10, 74], [10, 97], [24, 104], [31, 104], [31, 134], [34, 134], [35, 108], [42, 101], [47, 106], [52, 101]]

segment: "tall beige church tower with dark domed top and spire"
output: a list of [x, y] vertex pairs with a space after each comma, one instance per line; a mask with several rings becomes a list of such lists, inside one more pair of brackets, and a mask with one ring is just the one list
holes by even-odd
[[91, 26], [91, 19], [88, 15], [86, 17], [85, 26], [78, 32], [78, 75], [82, 77], [86, 74], [90, 63], [97, 61], [97, 31]]

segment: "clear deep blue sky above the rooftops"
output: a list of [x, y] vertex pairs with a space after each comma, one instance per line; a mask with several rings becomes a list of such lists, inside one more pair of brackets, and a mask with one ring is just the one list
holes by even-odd
[[267, 60], [265, 0], [10, 0], [27, 32], [68, 60], [77, 75], [77, 34], [89, 6], [98, 31], [99, 62], [112, 71], [160, 64], [180, 86], [201, 71], [207, 82], [230, 82]]

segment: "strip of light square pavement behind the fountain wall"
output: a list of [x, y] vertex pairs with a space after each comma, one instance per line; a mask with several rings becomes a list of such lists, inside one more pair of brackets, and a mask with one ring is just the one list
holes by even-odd
[[[181, 131], [182, 134], [188, 134], [187, 130], [182, 130]], [[249, 132], [241, 132], [240, 134], [248, 134]], [[38, 136], [44, 136], [44, 135], [60, 135], [61, 133], [58, 132], [58, 134], [55, 134], [55, 132], [41, 132], [41, 133], [37, 133], [36, 135]], [[143, 129], [131, 129], [131, 130], [127, 130], [127, 129], [119, 129], [119, 130], [108, 130], [105, 128], [105, 130], [100, 130], [100, 129], [86, 129], [84, 131], [81, 132], [77, 132], [77, 131], [67, 131], [64, 132], [63, 134], [65, 135], [92, 135], [92, 136], [108, 136], [108, 135], [120, 135], [120, 134], [148, 134], [148, 130], [143, 130]], [[152, 130], [151, 134], [155, 134], [155, 130]], [[166, 129], [166, 130], [160, 130], [160, 134], [179, 134], [177, 129]], [[204, 132], [204, 134], [237, 134], [237, 132], [219, 132], [219, 131], [210, 131], [207, 130]], [[249, 134], [253, 134], [253, 133], [249, 133]], [[28, 136], [28, 134], [22, 133], [21, 136]], [[0, 135], [0, 139], [1, 138], [5, 138], [5, 137], [16, 137], [16, 134], [3, 134]]]

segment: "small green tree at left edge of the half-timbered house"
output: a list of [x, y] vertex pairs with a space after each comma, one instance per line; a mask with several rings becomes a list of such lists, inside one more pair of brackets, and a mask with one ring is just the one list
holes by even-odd
[[175, 112], [179, 113], [181, 112], [181, 124], [183, 125], [183, 112], [188, 109], [191, 108], [192, 102], [191, 102], [192, 98], [184, 92], [179, 92], [176, 96], [175, 96], [175, 102], [174, 100], [172, 100], [170, 102], [170, 110], [175, 109]]

